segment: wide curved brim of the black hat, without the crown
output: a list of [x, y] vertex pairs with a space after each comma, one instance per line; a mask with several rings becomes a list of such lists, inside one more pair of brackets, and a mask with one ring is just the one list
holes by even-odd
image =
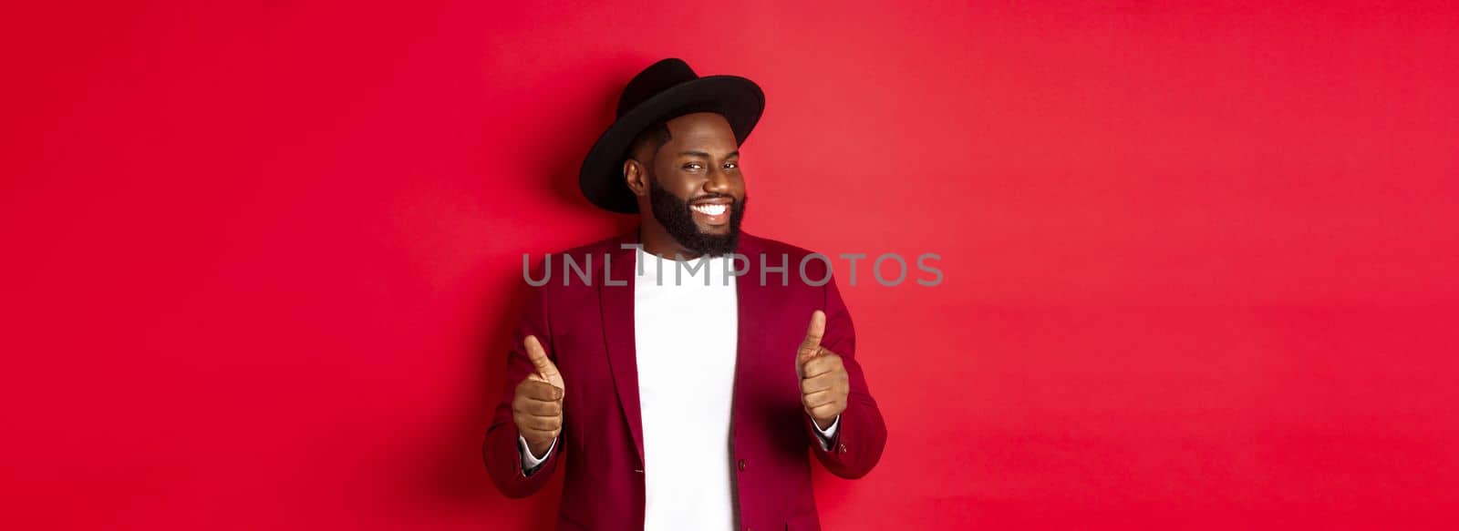
[[765, 112], [765, 92], [740, 76], [705, 76], [654, 95], [619, 117], [588, 150], [578, 172], [582, 194], [592, 204], [611, 212], [638, 212], [638, 200], [623, 182], [622, 166], [633, 139], [667, 114], [699, 104], [715, 104], [730, 121], [735, 143], [744, 144]]

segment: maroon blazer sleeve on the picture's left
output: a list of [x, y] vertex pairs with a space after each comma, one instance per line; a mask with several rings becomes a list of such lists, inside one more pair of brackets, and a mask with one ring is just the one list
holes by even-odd
[[[486, 441], [481, 443], [481, 460], [486, 461], [486, 470], [492, 476], [492, 483], [496, 483], [496, 487], [508, 497], [525, 497], [537, 493], [537, 490], [547, 484], [553, 471], [557, 470], [557, 464], [563, 460], [562, 454], [565, 448], [562, 448], [562, 435], [559, 433], [557, 448], [530, 476], [524, 474], [522, 457], [516, 442], [519, 433], [516, 432], [516, 423], [512, 420], [512, 397], [516, 392], [516, 384], [534, 371], [531, 359], [527, 357], [522, 340], [527, 336], [537, 336], [543, 350], [547, 352], [547, 357], [554, 362], [557, 359], [547, 318], [546, 287], [531, 289], [527, 305], [522, 309], [522, 317], [512, 333], [512, 347], [506, 353], [506, 385], [502, 388], [502, 397], [486, 430]], [[566, 430], [566, 426], [563, 426], [563, 430]]]

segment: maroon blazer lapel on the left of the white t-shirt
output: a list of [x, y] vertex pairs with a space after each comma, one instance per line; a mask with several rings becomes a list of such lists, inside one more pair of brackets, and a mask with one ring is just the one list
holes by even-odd
[[[623, 406], [623, 420], [633, 433], [633, 449], [638, 451], [639, 464], [643, 464], [643, 419], [638, 394], [638, 354], [633, 334], [633, 271], [635, 249], [623, 249], [623, 244], [638, 244], [638, 230], [619, 236], [607, 249], [605, 255], [613, 257], [608, 263], [611, 271], [598, 283], [598, 309], [603, 317], [603, 337], [608, 350], [608, 368], [613, 371], [613, 385], [619, 391], [619, 404]], [[607, 282], [623, 283], [623, 286], [608, 286]]]

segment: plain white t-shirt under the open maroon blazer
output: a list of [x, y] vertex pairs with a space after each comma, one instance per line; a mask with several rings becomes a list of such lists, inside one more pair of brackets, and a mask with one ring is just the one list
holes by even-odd
[[724, 258], [676, 263], [638, 255], [643, 267], [633, 287], [633, 333], [648, 495], [643, 530], [734, 530], [735, 277], [724, 274]]

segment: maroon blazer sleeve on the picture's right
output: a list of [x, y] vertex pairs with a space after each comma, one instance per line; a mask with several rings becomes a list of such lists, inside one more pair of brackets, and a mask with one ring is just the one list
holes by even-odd
[[858, 478], [867, 476], [881, 460], [881, 451], [887, 445], [887, 425], [867, 388], [867, 375], [861, 371], [861, 363], [856, 363], [856, 330], [835, 279], [826, 283], [824, 296], [826, 336], [821, 338], [821, 347], [840, 356], [846, 366], [846, 378], [851, 381], [851, 392], [830, 448], [821, 448], [816, 442], [814, 420], [804, 414], [801, 417], [807, 442], [811, 442], [811, 451], [826, 470], [845, 478]]

